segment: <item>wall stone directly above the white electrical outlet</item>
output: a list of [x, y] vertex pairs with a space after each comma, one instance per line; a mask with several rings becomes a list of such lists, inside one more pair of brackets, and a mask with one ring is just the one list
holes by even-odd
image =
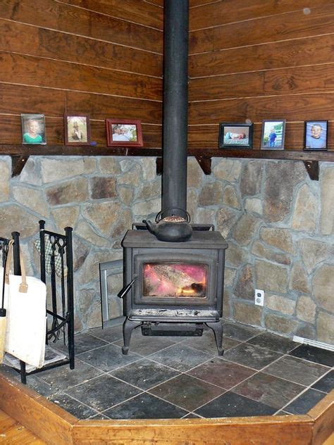
[[268, 263], [267, 261], [255, 261], [256, 289], [264, 289], [265, 292], [287, 293], [287, 269], [281, 265]]

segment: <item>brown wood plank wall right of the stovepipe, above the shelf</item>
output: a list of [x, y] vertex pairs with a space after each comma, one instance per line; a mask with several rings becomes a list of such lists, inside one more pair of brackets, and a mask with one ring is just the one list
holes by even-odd
[[304, 120], [330, 120], [334, 149], [333, 0], [190, 0], [192, 148], [217, 148], [218, 123], [286, 119], [302, 150]]

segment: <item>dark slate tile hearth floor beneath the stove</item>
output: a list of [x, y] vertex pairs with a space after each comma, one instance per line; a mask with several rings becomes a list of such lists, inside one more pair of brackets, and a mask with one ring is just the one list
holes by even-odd
[[94, 329], [75, 336], [75, 370], [39, 372], [27, 386], [80, 419], [305, 414], [334, 388], [333, 352], [232, 322], [223, 338], [218, 357], [211, 330], [143, 337], [137, 329], [123, 356], [121, 325]]

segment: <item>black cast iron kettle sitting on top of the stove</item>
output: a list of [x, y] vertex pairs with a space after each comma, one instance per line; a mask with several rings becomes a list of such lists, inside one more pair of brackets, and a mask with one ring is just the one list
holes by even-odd
[[[175, 208], [178, 207], [173, 207], [173, 209]], [[168, 210], [171, 210], [171, 208], [166, 208], [165, 211], [159, 212], [156, 215], [155, 224], [149, 220], [143, 220], [142, 222], [147, 225], [147, 230], [153, 233], [160, 241], [185, 242], [190, 239], [192, 236], [192, 226], [190, 225], [189, 213], [181, 208], [178, 208], [178, 210], [185, 212], [186, 219], [177, 215], [162, 218], [163, 213], [166, 213]]]

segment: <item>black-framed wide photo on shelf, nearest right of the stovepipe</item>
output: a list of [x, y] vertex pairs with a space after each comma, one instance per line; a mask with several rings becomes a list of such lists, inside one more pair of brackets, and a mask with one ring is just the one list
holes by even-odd
[[220, 123], [219, 148], [220, 149], [252, 149], [253, 124], [252, 123]]

